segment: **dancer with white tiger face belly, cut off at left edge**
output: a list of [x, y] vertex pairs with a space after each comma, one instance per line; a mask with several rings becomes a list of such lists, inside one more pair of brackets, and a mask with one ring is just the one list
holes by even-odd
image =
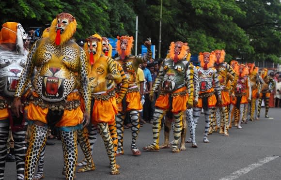
[[[24, 179], [27, 121], [11, 111], [19, 76], [26, 65], [28, 35], [17, 22], [5, 22], [0, 31], [0, 180], [4, 180], [9, 126], [15, 142], [16, 180]], [[28, 93], [28, 91], [25, 93]], [[24, 101], [25, 109], [28, 102]]]

